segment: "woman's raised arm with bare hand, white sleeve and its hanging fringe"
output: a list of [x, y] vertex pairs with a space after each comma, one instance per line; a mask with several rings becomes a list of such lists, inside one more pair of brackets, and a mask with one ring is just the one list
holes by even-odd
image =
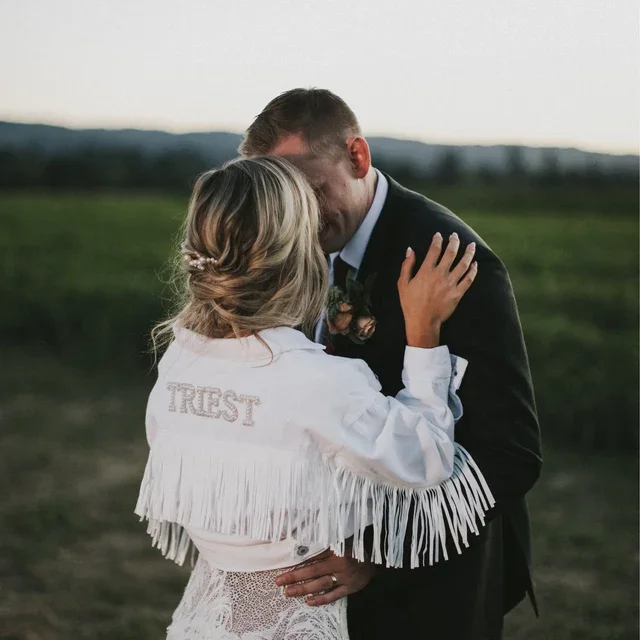
[[[372, 522], [372, 560], [387, 566], [403, 566], [407, 534], [411, 566], [418, 566], [420, 558], [429, 564], [446, 559], [447, 538], [460, 550], [493, 505], [482, 474], [454, 442], [454, 423], [461, 414], [455, 395], [460, 373], [453, 374], [447, 347], [437, 346], [441, 323], [475, 276], [474, 247], [453, 266], [457, 238], [442, 256], [441, 245], [436, 237], [413, 278], [415, 257], [409, 250], [398, 283], [409, 343], [404, 390], [395, 398], [384, 396], [363, 362], [340, 359], [332, 371], [329, 405], [339, 416], [313, 430], [351, 511], [353, 556], [365, 558], [363, 534]], [[341, 511], [340, 526], [345, 517]], [[332, 548], [345, 553], [343, 540]]]

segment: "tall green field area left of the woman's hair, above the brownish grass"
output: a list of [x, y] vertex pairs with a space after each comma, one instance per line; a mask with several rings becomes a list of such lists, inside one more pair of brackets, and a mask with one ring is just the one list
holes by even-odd
[[7, 340], [105, 362], [131, 356], [162, 313], [161, 278], [186, 202], [0, 196]]

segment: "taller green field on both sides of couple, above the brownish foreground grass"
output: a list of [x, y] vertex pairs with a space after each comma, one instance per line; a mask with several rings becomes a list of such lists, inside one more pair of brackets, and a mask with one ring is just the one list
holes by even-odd
[[[638, 222], [623, 215], [637, 211], [637, 192], [429, 195], [509, 268], [547, 439], [637, 447]], [[0, 195], [4, 340], [95, 366], [130, 363], [166, 311], [185, 207], [186, 197]]]

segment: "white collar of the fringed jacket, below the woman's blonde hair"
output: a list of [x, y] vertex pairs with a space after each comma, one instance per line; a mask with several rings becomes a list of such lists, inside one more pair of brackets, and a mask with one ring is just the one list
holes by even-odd
[[287, 351], [320, 351], [325, 348], [324, 345], [309, 340], [302, 331], [291, 327], [260, 331], [258, 335], [264, 342], [255, 336], [212, 339], [179, 325], [174, 325], [173, 333], [175, 342], [183, 349], [222, 360], [269, 361]]

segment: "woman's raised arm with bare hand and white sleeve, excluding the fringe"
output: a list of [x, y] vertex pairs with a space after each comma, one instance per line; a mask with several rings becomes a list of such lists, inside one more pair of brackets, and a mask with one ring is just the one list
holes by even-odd
[[[415, 276], [415, 254], [407, 250], [398, 280], [407, 348], [404, 389], [390, 398], [361, 361], [343, 361], [344, 403], [349, 409], [335, 430], [321, 438], [338, 449], [336, 461], [358, 476], [405, 488], [439, 484], [454, 472], [454, 423], [462, 414], [456, 395], [466, 361], [449, 355], [440, 342], [447, 320], [477, 273], [469, 245], [454, 266], [459, 249], [452, 236], [444, 252], [437, 234]], [[345, 405], [343, 405], [345, 406]]]

